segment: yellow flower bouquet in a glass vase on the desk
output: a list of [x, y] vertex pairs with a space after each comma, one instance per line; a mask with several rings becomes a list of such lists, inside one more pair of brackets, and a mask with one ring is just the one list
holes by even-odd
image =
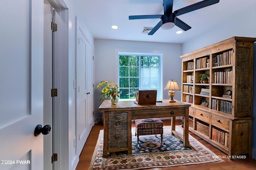
[[97, 88], [98, 87], [102, 88], [100, 94], [103, 94], [103, 96], [102, 96], [102, 98], [100, 98], [100, 100], [102, 100], [103, 98], [111, 97], [111, 100], [113, 98], [113, 100], [116, 100], [116, 103], [117, 103], [117, 98], [120, 97], [119, 96], [120, 91], [118, 90], [117, 84], [114, 84], [114, 82], [112, 82], [112, 81], [103, 81], [98, 84]]

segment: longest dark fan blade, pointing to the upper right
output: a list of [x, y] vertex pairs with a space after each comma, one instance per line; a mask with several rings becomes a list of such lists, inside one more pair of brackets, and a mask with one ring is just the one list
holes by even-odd
[[196, 4], [192, 4], [192, 5], [186, 6], [184, 8], [181, 8], [179, 10], [176, 10], [173, 13], [176, 14], [176, 16], [180, 16], [182, 14], [186, 14], [188, 12], [192, 12], [194, 10], [201, 9], [201, 8], [206, 7], [206, 6], [217, 4], [218, 2], [220, 2], [220, 0], [203, 0], [203, 1], [198, 2]]

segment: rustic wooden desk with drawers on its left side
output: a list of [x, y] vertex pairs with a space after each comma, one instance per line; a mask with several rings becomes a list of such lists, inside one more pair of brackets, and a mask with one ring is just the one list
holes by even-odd
[[[188, 107], [191, 105], [178, 101], [161, 101], [156, 105], [137, 105], [133, 101], [118, 101], [117, 105], [111, 105], [110, 100], [104, 100], [99, 107], [104, 118], [103, 157], [107, 157], [109, 152], [124, 150], [132, 154], [132, 119], [171, 117], [171, 133], [183, 141], [185, 147], [189, 147]], [[184, 116], [183, 135], [175, 131], [176, 116]]]

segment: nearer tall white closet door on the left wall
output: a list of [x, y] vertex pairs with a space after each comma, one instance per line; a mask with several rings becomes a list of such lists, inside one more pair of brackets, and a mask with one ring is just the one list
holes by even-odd
[[76, 138], [77, 154], [82, 151], [88, 137], [87, 129], [87, 86], [86, 86], [86, 45], [87, 41], [77, 29], [77, 47], [76, 47]]

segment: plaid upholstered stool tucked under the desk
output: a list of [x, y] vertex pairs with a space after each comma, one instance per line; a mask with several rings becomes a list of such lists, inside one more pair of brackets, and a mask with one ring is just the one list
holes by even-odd
[[139, 136], [141, 135], [161, 135], [161, 143], [163, 141], [163, 122], [158, 118], [152, 119], [136, 119], [135, 120], [135, 136], [137, 135], [137, 143], [139, 144]]

